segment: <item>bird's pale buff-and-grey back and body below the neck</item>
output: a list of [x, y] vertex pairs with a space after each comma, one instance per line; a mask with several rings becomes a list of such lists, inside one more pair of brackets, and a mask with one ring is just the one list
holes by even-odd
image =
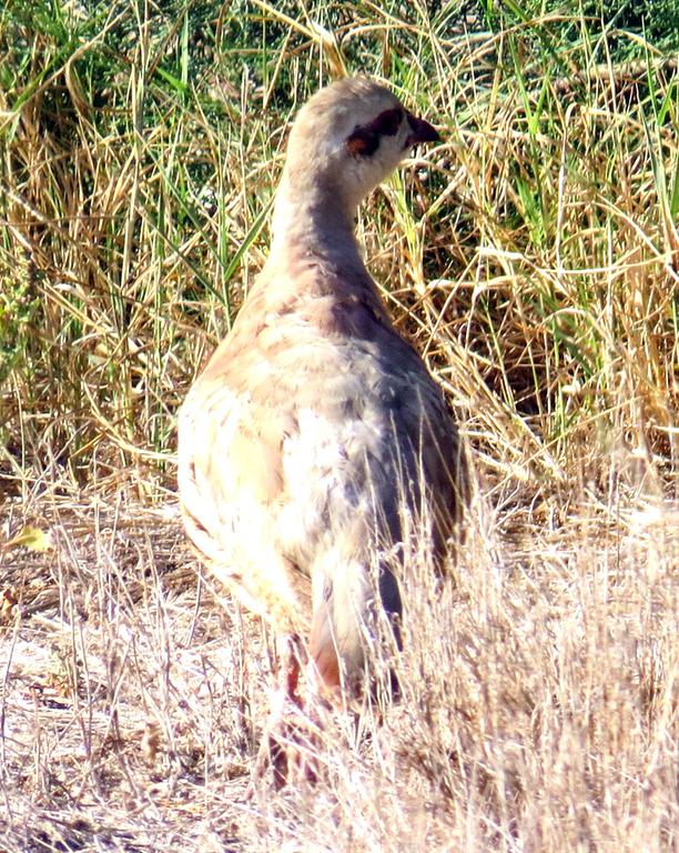
[[337, 658], [356, 675], [376, 589], [401, 611], [389, 550], [428, 524], [440, 559], [460, 483], [442, 393], [365, 269], [270, 265], [180, 438], [186, 525], [215, 574], [280, 630], [311, 631], [326, 680]]

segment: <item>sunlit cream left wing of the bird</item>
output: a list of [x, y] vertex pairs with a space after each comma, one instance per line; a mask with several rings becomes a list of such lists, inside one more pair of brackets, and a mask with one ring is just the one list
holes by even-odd
[[226, 350], [195, 383], [179, 421], [179, 485], [184, 523], [212, 573], [277, 629], [306, 630], [310, 583], [281, 552], [286, 415], [253, 400], [219, 371]]

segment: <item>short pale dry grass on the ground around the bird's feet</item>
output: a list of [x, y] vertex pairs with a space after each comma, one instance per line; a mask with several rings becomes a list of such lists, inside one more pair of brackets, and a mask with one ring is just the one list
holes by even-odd
[[334, 713], [317, 784], [250, 800], [260, 624], [171, 512], [40, 502], [53, 550], [3, 560], [6, 847], [671, 850], [679, 512], [527, 496], [475, 505], [454, 584], [415, 561], [382, 724]]

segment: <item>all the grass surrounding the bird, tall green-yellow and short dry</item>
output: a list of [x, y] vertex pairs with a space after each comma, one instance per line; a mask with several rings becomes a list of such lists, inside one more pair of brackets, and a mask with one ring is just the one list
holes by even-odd
[[[242, 6], [0, 17], [0, 850], [676, 849], [676, 61], [503, 3]], [[174, 415], [343, 64], [445, 127], [359, 232], [478, 496], [449, 583], [413, 561], [402, 700], [246, 799], [275, 661], [185, 551]]]

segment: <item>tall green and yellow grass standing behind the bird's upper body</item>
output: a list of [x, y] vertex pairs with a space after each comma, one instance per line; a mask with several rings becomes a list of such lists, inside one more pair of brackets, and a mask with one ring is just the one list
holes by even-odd
[[[371, 257], [392, 247], [375, 272], [470, 431], [501, 460], [528, 428], [553, 472], [611, 431], [671, 458], [676, 63], [639, 28], [615, 30], [636, 56], [617, 62], [590, 11], [10, 2], [2, 404], [11, 432], [21, 402], [33, 472], [50, 417], [74, 482], [95, 458], [164, 482], [178, 403], [266, 250], [286, 122], [342, 69], [384, 74], [446, 128], [364, 235]], [[652, 28], [676, 34], [671, 9]]]

